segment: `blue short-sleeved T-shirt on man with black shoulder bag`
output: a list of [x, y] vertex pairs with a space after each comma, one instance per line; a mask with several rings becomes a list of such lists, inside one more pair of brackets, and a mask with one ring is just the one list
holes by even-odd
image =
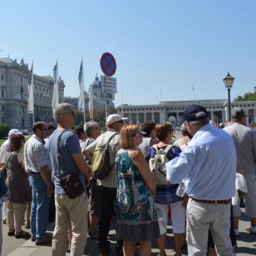
[[[74, 161], [72, 155], [81, 153], [81, 147], [79, 144], [79, 139], [76, 133], [72, 131], [65, 131], [63, 134], [63, 129], [57, 129], [52, 133], [49, 138], [49, 153], [52, 162], [52, 176], [54, 178], [54, 185], [56, 195], [65, 195], [65, 191], [60, 186], [60, 177], [64, 177], [67, 174], [79, 173], [79, 179], [83, 184], [84, 191], [86, 191], [86, 181], [83, 173], [77, 168], [76, 162]], [[58, 137], [61, 134], [60, 141], [60, 175], [58, 167], [57, 158], [57, 143]]]

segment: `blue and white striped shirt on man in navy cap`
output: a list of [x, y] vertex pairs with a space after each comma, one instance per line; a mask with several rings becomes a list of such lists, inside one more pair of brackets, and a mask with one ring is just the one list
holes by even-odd
[[226, 200], [236, 192], [236, 148], [230, 135], [204, 125], [179, 157], [166, 163], [173, 184], [186, 179], [186, 193], [201, 200]]

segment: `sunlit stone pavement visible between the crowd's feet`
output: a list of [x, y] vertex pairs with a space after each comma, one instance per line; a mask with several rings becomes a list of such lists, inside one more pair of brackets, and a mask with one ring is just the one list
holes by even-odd
[[[242, 209], [243, 215], [241, 216], [240, 221], [240, 237], [237, 239], [237, 245], [238, 248], [236, 250], [237, 256], [242, 255], [256, 255], [256, 236], [252, 234], [248, 234], [245, 231], [245, 228], [249, 225], [248, 218], [244, 215], [244, 209]], [[4, 229], [4, 228], [3, 228]], [[52, 232], [52, 227], [50, 227], [49, 232]], [[4, 236], [6, 235], [6, 232], [3, 233]], [[6, 239], [6, 237], [4, 237]], [[15, 237], [8, 237], [8, 240], [15, 239]], [[17, 239], [16, 239], [17, 240]], [[21, 241], [22, 239], [19, 239]], [[111, 249], [113, 253], [111, 256], [115, 255], [115, 230], [111, 230], [109, 234], [109, 240], [111, 241]], [[36, 246], [35, 243], [31, 242], [30, 240], [26, 241], [23, 240], [24, 243], [21, 244], [17, 249], [13, 249], [13, 252], [10, 254], [4, 254], [3, 256], [48, 256], [51, 255], [51, 245], [49, 246]], [[3, 244], [4, 247], [4, 244]], [[167, 255], [174, 255], [175, 252], [173, 250], [174, 243], [173, 243], [173, 234], [172, 234], [172, 226], [168, 226], [168, 237], [166, 239], [166, 253]], [[138, 250], [138, 248], [137, 248]], [[6, 252], [6, 250], [3, 250], [3, 252]], [[152, 255], [157, 255], [159, 253], [159, 250], [157, 249], [157, 244], [153, 243], [152, 246]], [[184, 250], [184, 255], [187, 255], [188, 253], [186, 250]], [[70, 255], [67, 253], [66, 255]], [[96, 256], [99, 255], [98, 252], [98, 245], [97, 241], [91, 239], [88, 237], [88, 242], [86, 244], [86, 248], [84, 250], [84, 255], [90, 255], [90, 256]], [[137, 253], [138, 255], [138, 253]]]

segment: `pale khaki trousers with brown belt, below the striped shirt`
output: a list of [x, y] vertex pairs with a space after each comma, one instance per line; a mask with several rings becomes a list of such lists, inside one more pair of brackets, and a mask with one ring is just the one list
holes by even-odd
[[189, 256], [205, 256], [209, 229], [220, 256], [232, 256], [230, 241], [230, 204], [205, 204], [189, 198], [187, 242]]

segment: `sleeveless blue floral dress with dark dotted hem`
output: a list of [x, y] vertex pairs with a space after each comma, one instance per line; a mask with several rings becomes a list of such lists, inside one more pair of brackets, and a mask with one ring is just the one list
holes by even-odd
[[116, 173], [116, 238], [140, 242], [159, 237], [154, 199], [138, 168], [128, 155], [119, 150]]

